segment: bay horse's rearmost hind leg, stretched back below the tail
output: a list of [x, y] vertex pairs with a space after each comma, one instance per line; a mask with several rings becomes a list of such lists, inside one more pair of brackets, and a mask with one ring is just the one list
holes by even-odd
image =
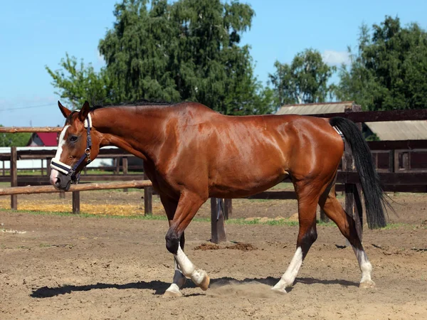
[[344, 211], [339, 201], [337, 201], [334, 187], [320, 198], [319, 206], [325, 212], [327, 217], [337, 224], [339, 231], [341, 231], [342, 235], [344, 235], [352, 245], [362, 272], [362, 279], [360, 280], [359, 287], [375, 287], [375, 283], [371, 279], [372, 265], [371, 262], [369, 262], [367, 254], [362, 246], [362, 242], [357, 234], [356, 223], [354, 222], [354, 219]]

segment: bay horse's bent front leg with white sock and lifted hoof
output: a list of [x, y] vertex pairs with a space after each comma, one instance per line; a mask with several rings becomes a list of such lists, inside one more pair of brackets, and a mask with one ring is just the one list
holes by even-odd
[[180, 245], [181, 236], [184, 234], [185, 228], [189, 225], [194, 215], [196, 215], [200, 206], [207, 200], [200, 196], [184, 192], [179, 198], [178, 207], [169, 230], [166, 234], [166, 247], [169, 252], [174, 255], [174, 258], [179, 265], [179, 271], [185, 277], [189, 277], [196, 286], [203, 290], [209, 287], [209, 276], [204, 270], [196, 269], [194, 264], [186, 256]]

